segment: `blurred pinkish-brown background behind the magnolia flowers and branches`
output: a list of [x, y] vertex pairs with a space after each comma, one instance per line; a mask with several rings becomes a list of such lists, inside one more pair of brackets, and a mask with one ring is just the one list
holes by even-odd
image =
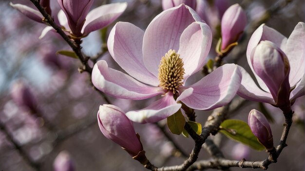
[[[52, 13], [56, 16], [59, 5], [57, 0], [50, 1]], [[92, 8], [118, 1], [127, 1], [128, 7], [116, 21], [131, 22], [143, 30], [162, 11], [161, 0], [95, 0]], [[222, 9], [213, 0], [204, 1], [207, 5], [206, 20], [214, 36], [209, 54], [213, 58]], [[285, 0], [223, 1], [222, 7], [228, 8], [238, 2], [247, 12], [247, 31], [240, 39], [240, 44], [225, 58], [225, 62], [235, 62], [246, 69], [249, 69], [245, 54], [248, 39], [261, 23], [288, 37], [298, 22], [305, 22], [304, 0], [286, 0], [289, 3], [282, 6], [279, 4]], [[29, 0], [12, 2], [35, 8]], [[63, 39], [56, 33], [50, 33], [39, 40], [45, 25], [23, 16], [9, 3], [8, 0], [0, 1], [0, 171], [52, 171], [58, 154], [58, 161], [68, 160], [76, 171], [145, 170], [128, 153], [101, 134], [96, 113], [99, 105], [105, 102], [90, 84], [89, 75], [78, 72], [80, 63], [77, 59], [56, 54], [59, 50], [70, 50]], [[106, 31], [107, 36], [114, 24], [103, 31]], [[105, 36], [101, 33], [95, 31], [83, 39], [83, 53], [95, 56], [101, 51], [105, 46]], [[121, 69], [108, 52], [98, 59], [101, 58], [110, 67]], [[192, 79], [201, 77], [202, 74], [197, 73]], [[150, 100], [114, 98], [110, 98], [110, 101], [125, 111], [139, 109], [150, 103]], [[249, 111], [258, 109], [258, 106], [258, 103], [245, 102], [230, 118], [247, 121]], [[273, 118], [271, 129], [277, 143], [284, 117], [281, 111], [271, 105], [265, 107]], [[294, 104], [294, 110], [288, 147], [280, 155], [278, 163], [269, 166], [269, 171], [305, 171], [304, 97]], [[197, 121], [204, 124], [210, 113], [196, 111]], [[166, 121], [159, 123], [161, 129], [155, 124], [134, 125], [141, 136], [147, 157], [156, 166], [181, 164], [185, 159], [175, 150], [167, 136], [178, 142], [178, 146], [187, 154], [193, 148], [192, 139], [172, 135]], [[256, 161], [267, 157], [265, 152], [257, 152], [220, 134], [210, 138], [217, 142], [228, 159]], [[203, 149], [199, 159], [209, 158], [210, 155]]]

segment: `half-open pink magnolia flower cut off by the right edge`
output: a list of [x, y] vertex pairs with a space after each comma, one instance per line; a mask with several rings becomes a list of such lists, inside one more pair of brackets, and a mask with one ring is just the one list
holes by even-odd
[[[258, 44], [262, 42], [262, 45]], [[251, 36], [247, 60], [259, 86], [241, 68], [243, 79], [238, 95], [252, 101], [270, 103], [284, 112], [305, 95], [305, 24], [299, 22], [287, 39], [262, 24]]]

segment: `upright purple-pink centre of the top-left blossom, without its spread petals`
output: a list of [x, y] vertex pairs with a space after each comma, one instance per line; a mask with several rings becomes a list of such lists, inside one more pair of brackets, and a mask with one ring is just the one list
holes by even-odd
[[69, 27], [76, 36], [81, 35], [81, 29], [86, 16], [93, 4], [93, 0], [57, 0], [60, 8], [65, 13]]

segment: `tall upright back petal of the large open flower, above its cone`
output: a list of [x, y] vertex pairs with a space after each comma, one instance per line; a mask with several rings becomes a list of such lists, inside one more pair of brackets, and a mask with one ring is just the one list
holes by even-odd
[[[155, 76], [162, 56], [170, 49], [179, 50], [182, 32], [195, 21], [196, 13], [181, 4], [167, 9], [153, 18], [143, 38], [143, 60], [146, 68]], [[201, 20], [201, 19], [200, 19]]]

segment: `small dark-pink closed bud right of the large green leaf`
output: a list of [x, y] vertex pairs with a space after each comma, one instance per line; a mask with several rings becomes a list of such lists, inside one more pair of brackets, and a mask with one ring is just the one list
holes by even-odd
[[267, 150], [273, 149], [273, 136], [266, 117], [258, 110], [252, 109], [249, 113], [248, 124], [252, 133]]

